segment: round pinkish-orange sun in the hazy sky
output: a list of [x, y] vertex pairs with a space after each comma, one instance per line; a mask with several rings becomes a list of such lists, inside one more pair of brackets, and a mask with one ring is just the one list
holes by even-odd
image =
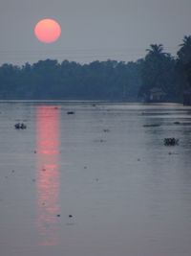
[[54, 19], [41, 19], [34, 27], [34, 35], [43, 43], [53, 43], [61, 35], [61, 27]]

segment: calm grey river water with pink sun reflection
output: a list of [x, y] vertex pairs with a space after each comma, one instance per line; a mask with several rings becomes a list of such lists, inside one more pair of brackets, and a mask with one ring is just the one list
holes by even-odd
[[1, 103], [0, 255], [190, 256], [190, 166], [189, 107]]

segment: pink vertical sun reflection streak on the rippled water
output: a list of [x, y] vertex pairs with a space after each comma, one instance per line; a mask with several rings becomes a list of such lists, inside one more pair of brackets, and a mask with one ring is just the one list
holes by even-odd
[[59, 115], [58, 107], [36, 108], [37, 224], [44, 245], [59, 243]]

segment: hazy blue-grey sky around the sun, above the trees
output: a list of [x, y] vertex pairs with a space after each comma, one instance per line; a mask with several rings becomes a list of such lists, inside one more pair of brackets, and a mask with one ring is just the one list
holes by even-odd
[[[36, 22], [56, 19], [60, 39], [43, 44]], [[136, 60], [151, 43], [175, 54], [191, 35], [191, 0], [0, 0], [0, 64], [57, 58]]]

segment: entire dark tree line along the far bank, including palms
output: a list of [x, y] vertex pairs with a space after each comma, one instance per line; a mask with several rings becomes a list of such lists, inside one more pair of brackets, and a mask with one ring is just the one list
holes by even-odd
[[182, 102], [191, 89], [191, 35], [184, 36], [176, 57], [162, 44], [151, 44], [137, 61], [93, 61], [80, 64], [55, 59], [0, 66], [1, 100], [105, 100], [138, 102], [152, 88], [167, 102]]

